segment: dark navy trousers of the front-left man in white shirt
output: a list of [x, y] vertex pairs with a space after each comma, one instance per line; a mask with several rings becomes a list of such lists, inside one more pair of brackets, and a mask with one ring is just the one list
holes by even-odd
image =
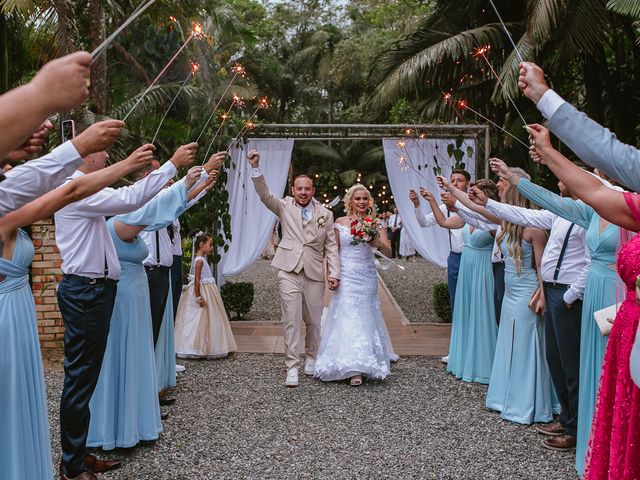
[[116, 283], [107, 280], [92, 284], [88, 278], [65, 275], [58, 285], [58, 305], [65, 327], [60, 437], [62, 461], [69, 477], [86, 470], [89, 401], [107, 346]]

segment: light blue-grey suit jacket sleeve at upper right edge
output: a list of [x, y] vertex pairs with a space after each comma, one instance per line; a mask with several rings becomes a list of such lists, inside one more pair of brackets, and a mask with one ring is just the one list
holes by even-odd
[[622, 143], [568, 102], [551, 116], [549, 129], [584, 163], [640, 192], [640, 150]]

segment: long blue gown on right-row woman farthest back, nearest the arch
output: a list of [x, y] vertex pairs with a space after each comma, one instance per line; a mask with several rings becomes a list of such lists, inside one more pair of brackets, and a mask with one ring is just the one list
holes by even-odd
[[489, 383], [498, 326], [493, 302], [494, 238], [466, 225], [456, 286], [447, 370], [465, 382]]

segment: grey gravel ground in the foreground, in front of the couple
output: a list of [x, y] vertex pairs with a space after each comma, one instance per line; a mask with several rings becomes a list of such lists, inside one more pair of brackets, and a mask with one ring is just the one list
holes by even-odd
[[[401, 359], [387, 381], [357, 389], [308, 378], [286, 389], [271, 355], [185, 365], [160, 440], [104, 455], [125, 465], [101, 479], [577, 478], [572, 453], [500, 420], [485, 386], [438, 360]], [[57, 461], [62, 367], [45, 371]]]

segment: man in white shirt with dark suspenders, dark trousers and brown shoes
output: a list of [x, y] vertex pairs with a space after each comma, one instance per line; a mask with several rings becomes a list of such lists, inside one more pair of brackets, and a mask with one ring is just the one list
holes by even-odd
[[[558, 183], [560, 193], [571, 193]], [[585, 230], [547, 210], [531, 210], [487, 200], [480, 203], [499, 218], [523, 227], [551, 230], [542, 255], [541, 271], [546, 310], [545, 349], [562, 412], [560, 421], [536, 429], [550, 438], [543, 446], [556, 451], [575, 448], [578, 424], [580, 380], [580, 323], [582, 295], [591, 257], [585, 244]]]

